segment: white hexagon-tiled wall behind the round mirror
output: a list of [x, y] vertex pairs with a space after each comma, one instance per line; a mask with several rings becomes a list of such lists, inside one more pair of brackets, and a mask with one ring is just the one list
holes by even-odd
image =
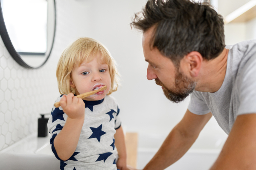
[[18, 65], [0, 38], [0, 150], [36, 132], [39, 113], [49, 113], [59, 95], [56, 66], [61, 52], [73, 40], [67, 34], [73, 27], [68, 27], [72, 18], [66, 12], [70, 4], [56, 1], [55, 43], [42, 68], [26, 69]]

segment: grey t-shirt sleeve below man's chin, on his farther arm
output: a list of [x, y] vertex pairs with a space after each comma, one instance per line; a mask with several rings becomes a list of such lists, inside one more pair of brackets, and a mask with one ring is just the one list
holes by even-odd
[[203, 95], [199, 91], [193, 91], [190, 95], [189, 111], [194, 114], [204, 115], [210, 112]]

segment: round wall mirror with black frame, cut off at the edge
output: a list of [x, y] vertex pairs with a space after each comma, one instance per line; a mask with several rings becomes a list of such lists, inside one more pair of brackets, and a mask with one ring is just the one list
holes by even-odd
[[55, 37], [55, 0], [0, 0], [0, 34], [11, 56], [26, 68], [47, 61]]

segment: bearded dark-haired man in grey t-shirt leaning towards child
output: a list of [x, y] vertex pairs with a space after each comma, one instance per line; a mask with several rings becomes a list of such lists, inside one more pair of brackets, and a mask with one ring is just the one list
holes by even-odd
[[[148, 0], [131, 26], [143, 31], [147, 78], [172, 102], [191, 102], [143, 170], [180, 159], [212, 117], [229, 135], [210, 170], [256, 169], [256, 40], [225, 47], [224, 22], [207, 4]], [[131, 168], [131, 167], [130, 167]]]

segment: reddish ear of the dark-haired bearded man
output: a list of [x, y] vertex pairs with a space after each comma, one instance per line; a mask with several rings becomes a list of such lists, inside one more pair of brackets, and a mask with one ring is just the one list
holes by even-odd
[[186, 64], [189, 66], [189, 74], [191, 77], [197, 77], [203, 62], [202, 55], [197, 51], [192, 51], [185, 56]]

